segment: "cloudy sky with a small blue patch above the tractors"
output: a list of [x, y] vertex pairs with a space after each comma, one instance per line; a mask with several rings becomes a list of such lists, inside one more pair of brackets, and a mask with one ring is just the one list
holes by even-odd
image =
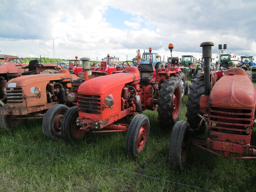
[[[136, 50], [202, 55], [202, 42], [224, 53], [256, 56], [255, 0], [1, 0], [0, 54], [131, 60]], [[166, 59], [165, 59], [166, 60]]]

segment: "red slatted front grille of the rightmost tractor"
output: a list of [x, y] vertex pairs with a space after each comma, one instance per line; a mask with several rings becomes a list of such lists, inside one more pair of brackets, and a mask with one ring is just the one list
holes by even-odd
[[253, 111], [250, 109], [232, 109], [211, 107], [209, 114], [209, 130], [248, 135], [252, 126]]

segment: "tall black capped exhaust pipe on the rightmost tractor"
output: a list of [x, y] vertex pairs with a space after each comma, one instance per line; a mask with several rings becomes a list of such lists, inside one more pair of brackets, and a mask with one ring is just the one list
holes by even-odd
[[210, 61], [212, 57], [213, 42], [202, 42], [202, 58], [204, 58], [204, 95], [210, 95]]

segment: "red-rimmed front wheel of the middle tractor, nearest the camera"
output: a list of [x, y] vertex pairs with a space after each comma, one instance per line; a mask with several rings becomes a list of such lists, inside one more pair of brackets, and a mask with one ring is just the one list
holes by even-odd
[[149, 135], [148, 116], [137, 114], [132, 119], [126, 136], [126, 153], [131, 159], [135, 159], [142, 152], [148, 141]]

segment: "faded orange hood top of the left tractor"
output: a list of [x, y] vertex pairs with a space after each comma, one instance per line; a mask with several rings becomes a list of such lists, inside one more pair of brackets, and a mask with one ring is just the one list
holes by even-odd
[[8, 84], [15, 83], [16, 87], [23, 87], [27, 86], [32, 83], [36, 82], [45, 82], [45, 81], [54, 81], [54, 80], [62, 80], [62, 81], [68, 81], [76, 80], [77, 77], [75, 75], [71, 75], [67, 69], [61, 69], [58, 73], [55, 74], [35, 74], [35, 75], [25, 75], [16, 77], [14, 79], [11, 79], [8, 81], [6, 86], [8, 87]]

